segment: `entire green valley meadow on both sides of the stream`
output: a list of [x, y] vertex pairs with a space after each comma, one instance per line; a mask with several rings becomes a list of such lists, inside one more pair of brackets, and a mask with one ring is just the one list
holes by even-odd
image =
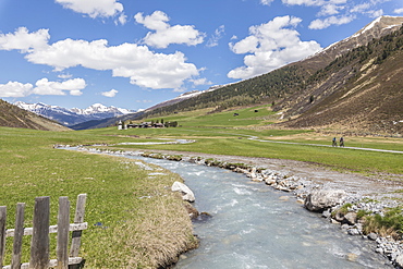
[[[80, 255], [86, 259], [87, 268], [157, 268], [171, 262], [178, 249], [195, 246], [183, 203], [169, 191], [174, 181], [181, 181], [179, 175], [152, 166], [154, 170], [144, 170], [138, 161], [122, 157], [56, 149], [56, 144], [108, 144], [115, 150], [174, 150], [194, 152], [196, 157], [205, 152], [292, 159], [339, 171], [390, 174], [390, 179], [392, 174], [403, 174], [402, 154], [313, 146], [309, 144], [330, 145], [332, 135], [310, 130], [272, 130], [269, 124], [276, 117], [268, 106], [260, 106], [147, 119], [179, 122], [179, 127], [169, 129], [44, 132], [0, 127], [0, 206], [8, 207], [8, 228], [13, 228], [16, 203], [26, 203], [25, 225], [32, 227], [35, 197], [50, 196], [51, 224], [56, 224], [59, 196], [69, 196], [74, 211], [77, 195], [86, 193], [88, 230], [83, 233]], [[160, 138], [194, 143], [139, 145]], [[345, 144], [403, 151], [402, 138], [345, 137]], [[152, 171], [163, 174], [150, 176]], [[53, 248], [54, 237], [51, 236]], [[8, 239], [4, 264], [10, 264], [11, 241]], [[29, 239], [25, 241], [24, 261], [28, 261]], [[53, 249], [51, 256], [54, 253]]]

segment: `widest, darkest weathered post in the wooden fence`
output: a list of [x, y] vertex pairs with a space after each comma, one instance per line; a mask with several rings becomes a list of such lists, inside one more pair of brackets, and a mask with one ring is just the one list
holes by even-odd
[[35, 198], [29, 268], [45, 269], [49, 264], [49, 196]]

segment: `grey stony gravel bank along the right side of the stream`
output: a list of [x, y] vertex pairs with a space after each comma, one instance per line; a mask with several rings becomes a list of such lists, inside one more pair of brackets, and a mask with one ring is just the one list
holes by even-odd
[[[113, 151], [113, 154], [119, 152]], [[375, 241], [377, 253], [388, 257], [396, 268], [403, 268], [402, 239], [382, 237], [376, 233], [365, 234], [363, 223], [357, 218], [359, 211], [383, 215], [386, 208], [398, 207], [401, 203], [399, 191], [403, 188], [403, 175], [393, 175], [393, 179], [398, 180], [388, 181], [382, 176], [338, 172], [315, 163], [240, 156], [162, 150], [120, 151], [120, 154], [188, 161], [244, 173], [252, 181], [293, 194], [297, 203], [304, 204], [306, 209], [317, 211], [330, 222], [340, 225], [342, 232]]]

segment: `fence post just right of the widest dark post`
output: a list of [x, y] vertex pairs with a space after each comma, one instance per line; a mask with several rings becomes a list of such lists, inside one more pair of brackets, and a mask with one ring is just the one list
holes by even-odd
[[70, 230], [70, 201], [63, 196], [59, 197], [58, 215], [58, 246], [57, 258], [58, 269], [69, 268], [69, 230]]

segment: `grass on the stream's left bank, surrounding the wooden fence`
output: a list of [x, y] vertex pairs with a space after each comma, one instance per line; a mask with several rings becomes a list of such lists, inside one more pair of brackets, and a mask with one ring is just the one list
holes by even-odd
[[[135, 160], [52, 148], [54, 144], [123, 139], [126, 140], [93, 132], [0, 127], [0, 205], [8, 207], [8, 228], [13, 227], [16, 203], [26, 203], [25, 227], [32, 227], [35, 197], [50, 196], [50, 222], [56, 224], [59, 196], [69, 196], [74, 209], [76, 196], [87, 193], [85, 221], [89, 228], [84, 231], [80, 254], [87, 268], [156, 268], [178, 254], [172, 254], [172, 249], [178, 250], [174, 244], [195, 244], [183, 201], [169, 188], [174, 181], [181, 181], [176, 174], [162, 171], [164, 175], [156, 179], [148, 176], [152, 171], [144, 170]], [[167, 228], [172, 234], [162, 232]], [[154, 241], [149, 237], [151, 230], [160, 234]], [[10, 264], [11, 241], [8, 239], [4, 264]], [[51, 242], [54, 258], [54, 236]], [[29, 239], [24, 244], [29, 249]], [[164, 255], [145, 250], [155, 245]], [[24, 252], [24, 261], [29, 260], [28, 253]]]

